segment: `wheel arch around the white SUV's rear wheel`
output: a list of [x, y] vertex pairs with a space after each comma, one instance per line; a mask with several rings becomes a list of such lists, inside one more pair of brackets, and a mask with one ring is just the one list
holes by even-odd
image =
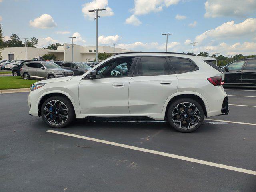
[[208, 103], [207, 103], [206, 99], [201, 94], [199, 94], [197, 92], [178, 92], [178, 93], [170, 96], [166, 100], [166, 103], [164, 104], [164, 117], [167, 117], [167, 112], [168, 112], [168, 108], [169, 108], [170, 104], [180, 98], [191, 98], [191, 99], [196, 100], [199, 104], [201, 104], [201, 106], [204, 110], [204, 115], [207, 117], [207, 112], [209, 111]]

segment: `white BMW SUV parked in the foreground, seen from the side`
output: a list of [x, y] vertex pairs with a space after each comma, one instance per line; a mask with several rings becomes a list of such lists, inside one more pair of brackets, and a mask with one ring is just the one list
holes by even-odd
[[213, 60], [166, 52], [116, 54], [81, 76], [33, 84], [29, 114], [53, 128], [89, 116], [147, 116], [192, 132], [204, 116], [229, 112], [224, 74]]

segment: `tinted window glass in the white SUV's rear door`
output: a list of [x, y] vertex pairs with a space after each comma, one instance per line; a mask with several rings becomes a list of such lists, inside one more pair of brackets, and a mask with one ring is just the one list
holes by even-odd
[[168, 75], [170, 68], [164, 57], [142, 57], [139, 76]]

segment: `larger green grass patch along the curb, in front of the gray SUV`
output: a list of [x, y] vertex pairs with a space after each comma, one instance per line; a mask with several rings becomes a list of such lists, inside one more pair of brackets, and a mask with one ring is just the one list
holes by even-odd
[[0, 77], [0, 90], [30, 88], [30, 85], [38, 80], [24, 80], [18, 77]]

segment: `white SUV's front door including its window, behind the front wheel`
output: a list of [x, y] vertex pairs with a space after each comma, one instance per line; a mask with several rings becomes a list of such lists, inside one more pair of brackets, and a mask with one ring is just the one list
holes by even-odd
[[79, 84], [81, 114], [129, 114], [133, 62], [134, 57], [115, 58], [96, 68], [97, 79], [82, 79]]

